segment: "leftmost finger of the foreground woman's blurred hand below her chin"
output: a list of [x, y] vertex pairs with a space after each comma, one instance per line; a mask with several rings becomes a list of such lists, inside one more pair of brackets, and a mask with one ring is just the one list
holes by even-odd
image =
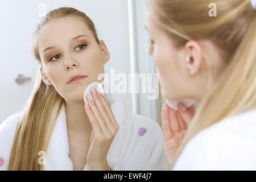
[[163, 135], [165, 140], [168, 140], [173, 137], [170, 122], [169, 122], [168, 109], [169, 108], [167, 104], [164, 104], [161, 112], [162, 130], [163, 130]]

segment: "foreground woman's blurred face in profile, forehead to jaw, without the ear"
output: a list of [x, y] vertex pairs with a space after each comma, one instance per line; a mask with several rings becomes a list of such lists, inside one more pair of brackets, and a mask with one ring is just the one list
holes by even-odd
[[187, 73], [182, 65], [182, 60], [185, 60], [184, 53], [182, 49], [174, 47], [171, 39], [156, 26], [151, 16], [151, 9], [148, 9], [146, 29], [151, 37], [148, 54], [153, 57], [156, 71], [159, 73], [162, 96], [169, 100], [180, 100], [185, 88], [184, 75]]

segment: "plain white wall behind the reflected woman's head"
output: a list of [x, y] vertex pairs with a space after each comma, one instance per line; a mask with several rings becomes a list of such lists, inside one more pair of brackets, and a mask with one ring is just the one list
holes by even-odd
[[[110, 52], [105, 72], [116, 68], [116, 73], [130, 72], [129, 27], [127, 1], [125, 0], [1, 0], [0, 1], [0, 123], [12, 114], [22, 111], [34, 86], [38, 63], [30, 50], [32, 33], [38, 24], [39, 3], [46, 4], [46, 11], [62, 6], [84, 11], [96, 25], [100, 39]], [[16, 84], [15, 77], [22, 73], [31, 77], [24, 85]], [[123, 94], [127, 109], [131, 111], [131, 94]]]

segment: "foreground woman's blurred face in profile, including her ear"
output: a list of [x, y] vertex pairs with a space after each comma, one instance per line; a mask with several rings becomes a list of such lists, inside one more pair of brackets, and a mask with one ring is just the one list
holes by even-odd
[[[148, 54], [153, 57], [159, 73], [162, 96], [172, 101], [185, 98], [199, 101], [207, 85], [203, 51], [199, 43], [193, 40], [188, 41], [184, 47], [177, 48], [166, 32], [152, 20], [155, 16], [153, 8], [154, 1], [149, 1], [146, 30], [151, 37], [151, 43]], [[204, 47], [208, 45], [204, 44]]]

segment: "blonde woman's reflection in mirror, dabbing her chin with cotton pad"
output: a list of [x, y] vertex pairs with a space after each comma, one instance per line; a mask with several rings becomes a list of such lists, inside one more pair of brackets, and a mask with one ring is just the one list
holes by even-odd
[[0, 126], [0, 170], [168, 169], [158, 123], [127, 112], [118, 94], [92, 89], [84, 104], [110, 59], [88, 16], [52, 10], [33, 43], [40, 69], [24, 110]]

